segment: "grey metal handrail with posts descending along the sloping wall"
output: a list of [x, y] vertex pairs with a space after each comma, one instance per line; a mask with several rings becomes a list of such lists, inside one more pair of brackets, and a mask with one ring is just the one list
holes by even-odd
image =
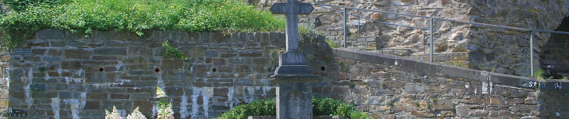
[[[302, 2], [302, 1], [301, 1]], [[307, 3], [307, 2], [304, 2]], [[312, 3], [310, 3], [312, 4]], [[422, 18], [426, 18], [426, 19], [430, 19], [430, 29], [424, 29], [424, 28], [419, 28], [419, 29], [423, 29], [423, 30], [431, 30], [430, 33], [430, 39], [431, 39], [431, 44], [430, 44], [430, 49], [431, 49], [431, 54], [430, 54], [430, 61], [432, 62], [433, 60], [433, 38], [432, 38], [432, 32], [434, 30], [432, 30], [432, 21], [434, 19], [436, 20], [444, 20], [444, 21], [452, 21], [452, 22], [457, 22], [457, 23], [465, 23], [465, 24], [474, 24], [474, 25], [483, 25], [483, 26], [488, 26], [488, 27], [497, 27], [497, 28], [506, 28], [506, 29], [514, 29], [514, 30], [522, 30], [522, 31], [526, 31], [526, 32], [530, 32], [530, 69], [531, 69], [531, 77], [535, 77], [534, 76], [534, 56], [533, 56], [533, 34], [534, 32], [546, 32], [546, 33], [559, 33], [559, 34], [569, 34], [569, 32], [559, 32], [559, 31], [553, 31], [553, 30], [541, 30], [541, 29], [526, 29], [526, 28], [517, 28], [517, 27], [508, 27], [508, 26], [504, 26], [504, 25], [493, 25], [493, 24], [484, 24], [484, 23], [476, 23], [476, 22], [471, 22], [471, 21], [461, 21], [461, 20], [452, 20], [452, 19], [444, 19], [444, 18], [439, 18], [439, 17], [430, 17], [430, 16], [421, 16], [421, 15], [411, 15], [411, 14], [402, 14], [402, 13], [397, 13], [397, 12], [388, 12], [388, 11], [380, 11], [380, 10], [369, 10], [369, 9], [364, 9], [364, 8], [355, 8], [355, 7], [344, 7], [344, 6], [336, 6], [336, 5], [327, 5], [327, 4], [320, 4], [320, 3], [315, 3], [312, 4], [315, 6], [319, 6], [319, 7], [323, 7], [323, 6], [329, 6], [329, 7], [337, 7], [337, 8], [343, 8], [344, 9], [344, 47], [345, 46], [345, 21], [346, 21], [346, 14], [345, 10], [346, 9], [353, 9], [353, 10], [362, 10], [362, 11], [370, 11], [370, 12], [380, 12], [380, 13], [384, 13], [384, 14], [395, 14], [395, 15], [403, 15], [403, 16], [413, 16], [413, 17], [422, 17]], [[326, 7], [323, 7], [326, 8]], [[328, 8], [331, 9], [331, 8]], [[334, 9], [331, 9], [334, 10]], [[334, 10], [334, 11], [338, 11], [338, 10]], [[341, 11], [339, 11], [341, 12]], [[352, 15], [352, 14], [350, 14]], [[357, 16], [357, 15], [354, 15]], [[358, 16], [360, 17], [360, 16]], [[370, 20], [370, 19], [368, 19]], [[375, 21], [375, 20], [374, 20]], [[377, 21], [379, 22], [379, 21]], [[381, 23], [381, 22], [380, 22]], [[387, 23], [389, 24], [389, 23]], [[405, 26], [405, 25], [400, 25], [400, 26]], [[411, 27], [411, 26], [405, 26], [405, 27]], [[440, 32], [440, 31], [439, 31]], [[423, 34], [424, 35], [424, 34]], [[439, 34], [440, 35], [440, 34]], [[424, 39], [423, 39], [424, 40]]]

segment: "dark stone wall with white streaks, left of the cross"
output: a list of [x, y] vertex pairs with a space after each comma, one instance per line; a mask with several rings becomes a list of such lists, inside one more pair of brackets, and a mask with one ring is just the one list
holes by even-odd
[[[269, 76], [277, 65], [264, 52], [283, 47], [283, 33], [93, 31], [84, 36], [41, 30], [2, 55], [3, 114], [11, 107], [31, 118], [103, 118], [104, 109], [116, 106], [125, 117], [136, 107], [151, 117], [159, 100], [156, 86], [168, 95], [176, 118], [213, 118], [234, 105], [275, 97]], [[164, 58], [163, 41], [189, 59]]]

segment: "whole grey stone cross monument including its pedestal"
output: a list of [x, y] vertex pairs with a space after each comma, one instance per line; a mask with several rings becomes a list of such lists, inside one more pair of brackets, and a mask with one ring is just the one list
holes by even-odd
[[308, 3], [287, 0], [274, 3], [273, 14], [286, 14], [286, 52], [279, 55], [279, 67], [271, 76], [277, 83], [277, 119], [312, 118], [312, 74], [306, 55], [298, 49], [298, 15], [310, 14], [314, 7]]

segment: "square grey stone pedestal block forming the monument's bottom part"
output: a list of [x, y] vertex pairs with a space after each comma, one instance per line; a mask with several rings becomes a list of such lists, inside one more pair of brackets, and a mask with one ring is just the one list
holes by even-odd
[[312, 82], [319, 75], [273, 75], [277, 83], [277, 119], [312, 118]]

